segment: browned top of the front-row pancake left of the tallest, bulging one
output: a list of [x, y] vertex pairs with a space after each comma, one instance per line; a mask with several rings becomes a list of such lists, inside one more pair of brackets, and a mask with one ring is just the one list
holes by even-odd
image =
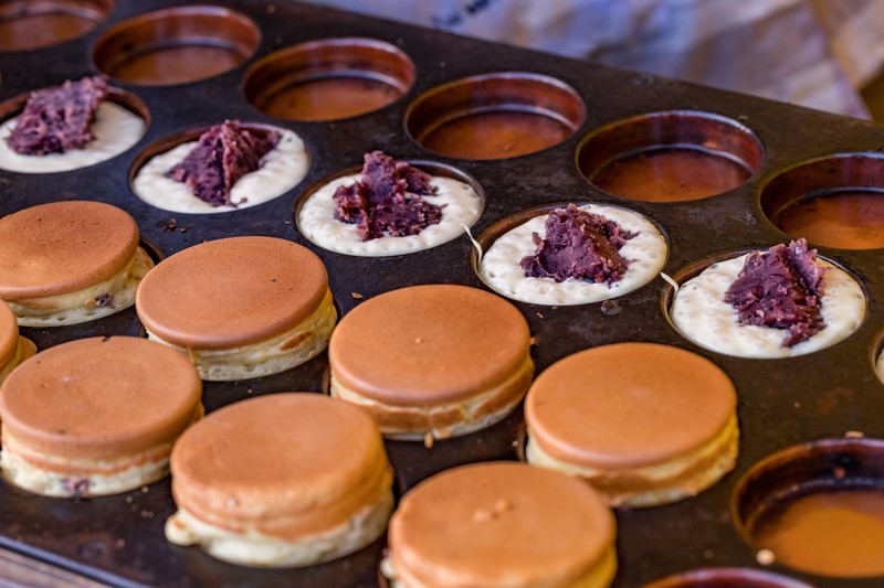
[[197, 370], [166, 345], [134, 336], [50, 348], [0, 387], [3, 435], [64, 458], [114, 459], [172, 441], [202, 393]]

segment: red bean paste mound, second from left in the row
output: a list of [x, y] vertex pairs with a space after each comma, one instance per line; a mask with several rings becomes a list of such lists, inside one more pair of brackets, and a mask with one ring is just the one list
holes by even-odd
[[257, 170], [278, 140], [274, 130], [251, 130], [239, 120], [225, 120], [203, 132], [197, 147], [168, 175], [212, 206], [235, 205], [230, 201], [233, 184]]

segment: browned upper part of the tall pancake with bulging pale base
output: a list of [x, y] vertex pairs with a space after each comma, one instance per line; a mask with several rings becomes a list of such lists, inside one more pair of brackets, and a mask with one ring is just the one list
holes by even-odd
[[176, 503], [197, 517], [293, 541], [346, 523], [392, 482], [375, 421], [311, 393], [211, 413], [176, 443], [171, 471]]

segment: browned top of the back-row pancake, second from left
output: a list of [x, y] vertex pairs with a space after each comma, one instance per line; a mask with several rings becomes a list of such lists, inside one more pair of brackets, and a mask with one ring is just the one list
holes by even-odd
[[176, 345], [257, 343], [309, 317], [328, 290], [323, 261], [272, 237], [231, 237], [185, 249], [151, 269], [135, 306], [145, 327]]

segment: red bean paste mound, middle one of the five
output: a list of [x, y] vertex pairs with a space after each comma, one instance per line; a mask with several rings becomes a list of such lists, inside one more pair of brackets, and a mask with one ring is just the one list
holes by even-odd
[[435, 191], [428, 173], [372, 151], [365, 156], [361, 179], [335, 191], [335, 218], [355, 224], [362, 240], [417, 235], [442, 221], [442, 206], [421, 197]]

